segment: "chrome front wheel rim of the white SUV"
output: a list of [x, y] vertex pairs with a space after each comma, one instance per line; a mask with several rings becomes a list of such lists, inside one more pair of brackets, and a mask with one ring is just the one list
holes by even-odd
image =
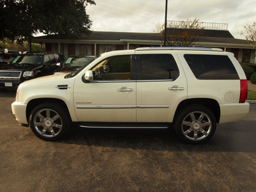
[[46, 138], [54, 138], [63, 129], [61, 116], [52, 109], [40, 109], [35, 113], [33, 125], [36, 132]]

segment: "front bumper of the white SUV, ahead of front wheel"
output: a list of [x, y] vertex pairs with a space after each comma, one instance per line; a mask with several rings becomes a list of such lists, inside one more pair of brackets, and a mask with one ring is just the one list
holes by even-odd
[[27, 116], [26, 116], [26, 104], [22, 104], [21, 102], [13, 102], [12, 103], [12, 113], [15, 115], [17, 122], [20, 124], [28, 124]]

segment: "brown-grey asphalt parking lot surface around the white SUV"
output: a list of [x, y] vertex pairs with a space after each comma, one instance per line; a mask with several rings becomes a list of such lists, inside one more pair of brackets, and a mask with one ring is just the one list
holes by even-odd
[[42, 141], [0, 90], [0, 191], [255, 191], [256, 104], [202, 145], [172, 130], [78, 129]]

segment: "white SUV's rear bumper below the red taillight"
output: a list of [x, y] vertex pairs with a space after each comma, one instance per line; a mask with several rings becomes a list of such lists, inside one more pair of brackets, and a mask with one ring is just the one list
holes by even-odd
[[250, 104], [222, 104], [220, 105], [220, 124], [242, 120], [248, 113]]

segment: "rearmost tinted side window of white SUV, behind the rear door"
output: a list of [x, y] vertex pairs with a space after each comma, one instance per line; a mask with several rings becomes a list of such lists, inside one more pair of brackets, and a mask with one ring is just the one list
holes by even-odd
[[239, 79], [228, 56], [185, 54], [184, 58], [197, 79]]

